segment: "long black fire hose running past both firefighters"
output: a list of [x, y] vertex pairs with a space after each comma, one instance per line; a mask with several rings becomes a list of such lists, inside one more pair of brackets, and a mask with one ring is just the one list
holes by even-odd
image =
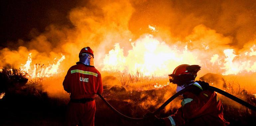
[[[212, 90], [212, 91], [215, 91], [221, 95], [224, 95], [236, 102], [238, 102], [239, 104], [241, 105], [244, 105], [245, 107], [249, 108], [249, 109], [252, 109], [253, 111], [256, 112], [256, 107], [247, 103], [246, 101], [234, 96], [234, 95], [231, 95], [225, 91], [222, 91], [218, 88], [215, 88], [215, 87], [212, 87], [212, 86], [208, 86], [208, 89]], [[178, 97], [179, 95], [182, 95], [183, 93], [185, 93], [186, 91], [188, 90], [188, 88], [185, 88], [179, 92], [177, 92], [176, 94], [174, 94], [173, 96], [171, 96], [167, 101], [165, 101], [165, 103], [163, 103], [155, 112], [153, 112], [153, 115], [156, 115], [157, 113], [159, 113], [162, 109], [164, 109], [166, 107], [166, 105], [168, 105], [172, 100], [174, 100], [176, 97]], [[118, 110], [116, 110], [111, 104], [108, 103], [108, 101], [100, 94], [97, 94], [106, 104], [109, 108], [111, 108], [115, 113], [117, 113], [121, 118], [123, 119], [127, 119], [127, 120], [143, 120], [144, 118], [132, 118], [132, 117], [128, 117], [122, 113], [120, 113]]]

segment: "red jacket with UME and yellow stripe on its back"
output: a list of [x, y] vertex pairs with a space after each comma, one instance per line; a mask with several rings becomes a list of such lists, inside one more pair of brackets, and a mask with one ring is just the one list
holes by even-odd
[[100, 72], [94, 66], [79, 62], [69, 68], [63, 86], [73, 99], [93, 98], [94, 94], [103, 92]]

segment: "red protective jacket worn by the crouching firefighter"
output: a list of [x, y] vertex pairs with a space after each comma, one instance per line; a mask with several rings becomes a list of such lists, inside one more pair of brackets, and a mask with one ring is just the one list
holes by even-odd
[[226, 126], [223, 107], [217, 94], [204, 90], [203, 83], [195, 82], [183, 94], [182, 107], [174, 115], [164, 118], [167, 126]]

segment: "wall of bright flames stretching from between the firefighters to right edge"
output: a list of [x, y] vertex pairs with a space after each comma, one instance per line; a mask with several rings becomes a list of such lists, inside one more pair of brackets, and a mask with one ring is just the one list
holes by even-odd
[[[132, 49], [125, 56], [124, 49], [116, 43], [114, 49], [105, 55], [102, 70], [129, 73], [139, 71], [146, 76], [161, 77], [170, 74], [180, 64], [199, 64], [205, 68], [216, 67], [223, 75], [256, 72], [255, 45], [240, 55], [236, 55], [234, 49], [225, 49], [223, 53], [209, 55], [203, 50], [189, 50], [187, 45], [168, 45], [153, 35], [145, 35], [131, 45]], [[208, 45], [202, 44], [202, 47], [209, 49]], [[204, 57], [199, 57], [203, 54]]]

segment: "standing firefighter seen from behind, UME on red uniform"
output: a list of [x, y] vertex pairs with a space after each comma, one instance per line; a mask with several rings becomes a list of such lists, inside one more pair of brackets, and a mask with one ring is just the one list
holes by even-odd
[[69, 68], [63, 81], [64, 90], [70, 93], [67, 110], [68, 126], [94, 126], [96, 105], [95, 94], [103, 92], [99, 71], [94, 67], [93, 51], [90, 47], [82, 48], [79, 62]]

